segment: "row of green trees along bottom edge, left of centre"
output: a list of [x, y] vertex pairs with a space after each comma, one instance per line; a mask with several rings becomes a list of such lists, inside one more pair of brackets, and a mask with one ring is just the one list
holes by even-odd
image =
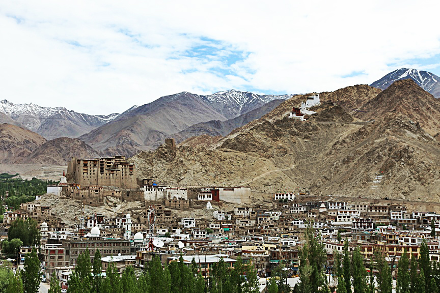
[[[77, 266], [68, 281], [70, 293], [259, 293], [257, 271], [238, 258], [234, 268], [223, 259], [212, 265], [209, 277], [204, 278], [193, 258], [188, 265], [180, 256], [162, 266], [158, 256], [148, 262], [144, 270], [127, 267], [119, 274], [114, 262], [110, 262], [101, 274], [101, 256], [96, 252], [93, 262], [89, 251], [78, 256]], [[51, 278], [51, 293], [61, 293], [55, 276]]]

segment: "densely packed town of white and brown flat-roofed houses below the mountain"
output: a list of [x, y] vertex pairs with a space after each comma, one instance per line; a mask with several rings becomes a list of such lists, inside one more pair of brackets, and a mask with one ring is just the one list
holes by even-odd
[[[72, 184], [62, 181], [64, 186]], [[286, 192], [275, 193], [272, 202], [259, 205], [241, 202], [251, 192], [248, 187], [191, 189], [144, 180], [140, 188], [145, 202], [141, 212], [116, 217], [84, 215], [74, 225], [66, 225], [38, 201], [23, 203], [19, 210], [5, 213], [1, 237], [7, 238], [8, 226], [18, 218], [36, 219], [41, 231], [38, 251], [43, 272], [47, 278], [56, 272], [62, 288], [67, 288], [77, 258], [86, 249], [91, 260], [99, 250], [103, 271], [111, 262], [122, 272], [127, 266], [144, 268], [154, 255], [164, 264], [183, 255], [188, 265], [196, 261], [203, 276], [208, 276], [209, 268], [219, 259], [233, 267], [238, 257], [252, 263], [262, 277], [270, 276], [280, 262], [296, 275], [298, 250], [309, 225], [325, 244], [328, 268], [333, 266], [334, 251], [343, 250], [345, 239], [351, 248], [361, 248], [366, 261], [375, 250], [386, 251], [391, 257], [400, 257], [406, 250], [418, 257], [426, 239], [431, 259], [440, 260], [440, 241], [431, 237], [431, 223], [438, 229], [440, 215], [408, 211], [400, 204], [357, 198], [322, 200]], [[88, 200], [86, 197], [86, 204]], [[206, 216], [180, 216], [196, 210], [203, 210]], [[21, 249], [17, 265], [30, 249]]]

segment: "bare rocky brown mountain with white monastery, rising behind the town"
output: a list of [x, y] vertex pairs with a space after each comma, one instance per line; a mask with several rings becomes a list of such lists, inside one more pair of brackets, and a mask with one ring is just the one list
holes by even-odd
[[[321, 93], [306, 122], [287, 117], [306, 97], [295, 96], [221, 140], [208, 144], [205, 137], [198, 145], [193, 138], [196, 143], [163, 145], [131, 160], [140, 177], [168, 183], [439, 200], [440, 143], [430, 135], [440, 119], [438, 100], [406, 80], [382, 93], [365, 85], [336, 92]], [[429, 115], [410, 111], [421, 100]]]

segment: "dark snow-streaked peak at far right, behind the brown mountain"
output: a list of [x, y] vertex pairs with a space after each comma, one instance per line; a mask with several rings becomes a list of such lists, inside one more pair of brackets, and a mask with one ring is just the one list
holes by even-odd
[[422, 87], [422, 89], [432, 94], [435, 98], [440, 98], [440, 77], [428, 71], [412, 68], [401, 68], [390, 72], [381, 79], [373, 82], [371, 86], [385, 90], [393, 82], [399, 79], [412, 79]]

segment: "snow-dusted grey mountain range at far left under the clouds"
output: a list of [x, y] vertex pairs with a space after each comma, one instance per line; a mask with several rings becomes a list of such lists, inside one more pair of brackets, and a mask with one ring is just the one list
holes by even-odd
[[114, 120], [119, 115], [89, 115], [65, 107], [41, 107], [33, 103], [14, 104], [8, 100], [0, 101], [0, 112], [48, 139], [61, 136], [77, 137]]

